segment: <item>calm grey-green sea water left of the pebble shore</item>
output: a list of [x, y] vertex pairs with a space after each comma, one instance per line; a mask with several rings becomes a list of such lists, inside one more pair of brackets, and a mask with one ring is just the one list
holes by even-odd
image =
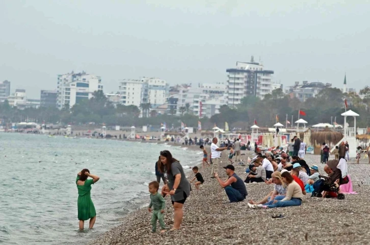
[[[48, 138], [0, 133], [0, 243], [72, 244], [94, 239], [148, 202], [154, 163], [168, 149], [184, 168], [201, 152], [179, 146], [101, 139]], [[92, 187], [97, 219], [93, 230], [78, 231], [78, 171], [100, 180]], [[148, 221], [149, 222], [149, 221]]]

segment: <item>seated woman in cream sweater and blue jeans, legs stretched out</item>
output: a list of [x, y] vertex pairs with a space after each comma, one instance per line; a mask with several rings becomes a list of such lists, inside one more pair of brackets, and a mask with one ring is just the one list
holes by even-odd
[[296, 181], [294, 181], [292, 175], [289, 172], [283, 172], [281, 178], [287, 185], [287, 191], [285, 198], [281, 201], [275, 200], [271, 205], [262, 204], [249, 204], [251, 208], [274, 208], [274, 207], [289, 207], [289, 206], [300, 206], [302, 204], [302, 189]]

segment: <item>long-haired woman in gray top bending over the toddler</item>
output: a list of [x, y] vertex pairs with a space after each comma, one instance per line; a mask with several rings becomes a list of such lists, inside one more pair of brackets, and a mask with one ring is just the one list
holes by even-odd
[[180, 229], [182, 222], [182, 206], [190, 195], [191, 187], [179, 161], [172, 157], [168, 150], [161, 151], [159, 169], [161, 173], [167, 172], [168, 187], [174, 208], [174, 222], [170, 231]]

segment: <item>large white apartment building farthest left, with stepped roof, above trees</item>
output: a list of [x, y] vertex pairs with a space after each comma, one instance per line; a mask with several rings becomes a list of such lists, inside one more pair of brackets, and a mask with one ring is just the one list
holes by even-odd
[[69, 105], [72, 108], [74, 104], [91, 99], [97, 90], [103, 90], [99, 76], [84, 71], [58, 75], [57, 107], [62, 109], [64, 105]]

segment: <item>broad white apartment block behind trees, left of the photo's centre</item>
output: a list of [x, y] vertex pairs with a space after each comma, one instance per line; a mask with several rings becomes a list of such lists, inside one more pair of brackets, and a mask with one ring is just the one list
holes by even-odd
[[150, 103], [152, 108], [163, 105], [168, 94], [168, 84], [160, 78], [141, 77], [140, 79], [123, 79], [119, 81], [121, 103], [136, 105]]

